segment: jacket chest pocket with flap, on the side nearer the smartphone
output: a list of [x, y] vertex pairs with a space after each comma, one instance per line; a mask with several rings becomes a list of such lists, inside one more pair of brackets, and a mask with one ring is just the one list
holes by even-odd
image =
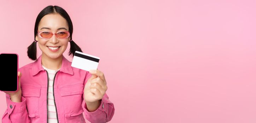
[[29, 117], [39, 117], [39, 98], [41, 87], [21, 86], [22, 96], [26, 98]]

